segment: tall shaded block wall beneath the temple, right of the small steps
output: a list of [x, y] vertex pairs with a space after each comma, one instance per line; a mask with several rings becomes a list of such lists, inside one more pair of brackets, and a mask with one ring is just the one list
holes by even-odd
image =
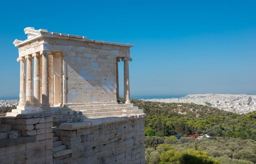
[[145, 163], [144, 116], [61, 124], [56, 135], [72, 153], [53, 163]]

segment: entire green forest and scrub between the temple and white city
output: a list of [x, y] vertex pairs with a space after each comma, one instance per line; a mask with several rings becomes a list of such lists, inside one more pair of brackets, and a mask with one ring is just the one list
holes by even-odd
[[[256, 112], [237, 114], [208, 105], [133, 99], [145, 118], [146, 163], [256, 163]], [[196, 140], [191, 134], [207, 134]], [[177, 140], [174, 135], [182, 135]]]

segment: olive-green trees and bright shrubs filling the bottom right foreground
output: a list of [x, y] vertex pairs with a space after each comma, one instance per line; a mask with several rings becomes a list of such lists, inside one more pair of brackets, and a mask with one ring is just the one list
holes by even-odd
[[[157, 158], [158, 163], [181, 163], [183, 159], [185, 160], [185, 163], [189, 163], [189, 159], [193, 159], [190, 162], [198, 162], [201, 158], [198, 159], [197, 155], [207, 160], [208, 157], [211, 157], [209, 159], [214, 159], [215, 162], [216, 160], [219, 160], [221, 164], [236, 164], [235, 162], [238, 164], [251, 164], [251, 162], [256, 159], [256, 141], [250, 139], [203, 137], [200, 140], [195, 140], [193, 138], [182, 137], [178, 142], [166, 144], [166, 140], [170, 137], [147, 137], [147, 140], [149, 138], [154, 138], [152, 140], [156, 140], [156, 138], [158, 139], [158, 142], [154, 142], [155, 144], [153, 144], [153, 147], [151, 147], [152, 144], [148, 145], [149, 142], [146, 142], [146, 152], [149, 149], [160, 153], [161, 158]], [[157, 145], [156, 143], [159, 144]], [[188, 150], [193, 151], [190, 152]], [[156, 158], [152, 157], [150, 159]]]

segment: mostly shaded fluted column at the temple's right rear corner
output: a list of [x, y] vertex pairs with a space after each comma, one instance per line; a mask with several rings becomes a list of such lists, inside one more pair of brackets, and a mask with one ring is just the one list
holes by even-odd
[[124, 57], [124, 103], [131, 103], [130, 101], [130, 85], [129, 85], [129, 61], [132, 61], [132, 58]]

